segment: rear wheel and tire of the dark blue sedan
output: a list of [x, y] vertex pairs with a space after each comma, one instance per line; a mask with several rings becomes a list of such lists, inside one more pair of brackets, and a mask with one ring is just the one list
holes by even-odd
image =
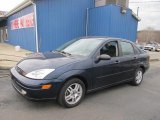
[[131, 85], [138, 86], [143, 81], [143, 70], [142, 68], [138, 68], [135, 72], [134, 79], [131, 81]]

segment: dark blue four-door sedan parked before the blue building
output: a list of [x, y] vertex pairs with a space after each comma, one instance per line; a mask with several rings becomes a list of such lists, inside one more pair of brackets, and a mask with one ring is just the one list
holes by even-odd
[[123, 82], [140, 85], [148, 68], [148, 54], [131, 41], [84, 37], [30, 55], [11, 69], [11, 78], [16, 91], [30, 100], [57, 99], [74, 107], [88, 92]]

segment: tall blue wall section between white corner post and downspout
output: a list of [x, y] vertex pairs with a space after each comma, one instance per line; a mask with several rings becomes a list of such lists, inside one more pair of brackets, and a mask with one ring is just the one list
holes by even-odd
[[36, 0], [40, 51], [85, 36], [86, 9], [94, 0]]

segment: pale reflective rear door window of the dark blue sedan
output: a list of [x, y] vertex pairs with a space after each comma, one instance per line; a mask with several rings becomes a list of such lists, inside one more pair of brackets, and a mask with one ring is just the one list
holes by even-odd
[[125, 55], [133, 55], [134, 49], [131, 43], [129, 42], [121, 42], [122, 54]]

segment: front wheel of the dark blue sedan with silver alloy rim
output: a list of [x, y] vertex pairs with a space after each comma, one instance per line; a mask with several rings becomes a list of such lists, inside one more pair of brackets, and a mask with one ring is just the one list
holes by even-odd
[[[77, 89], [76, 89], [77, 87]], [[80, 104], [86, 92], [84, 83], [77, 78], [67, 81], [62, 87], [58, 103], [66, 108], [72, 108]]]

